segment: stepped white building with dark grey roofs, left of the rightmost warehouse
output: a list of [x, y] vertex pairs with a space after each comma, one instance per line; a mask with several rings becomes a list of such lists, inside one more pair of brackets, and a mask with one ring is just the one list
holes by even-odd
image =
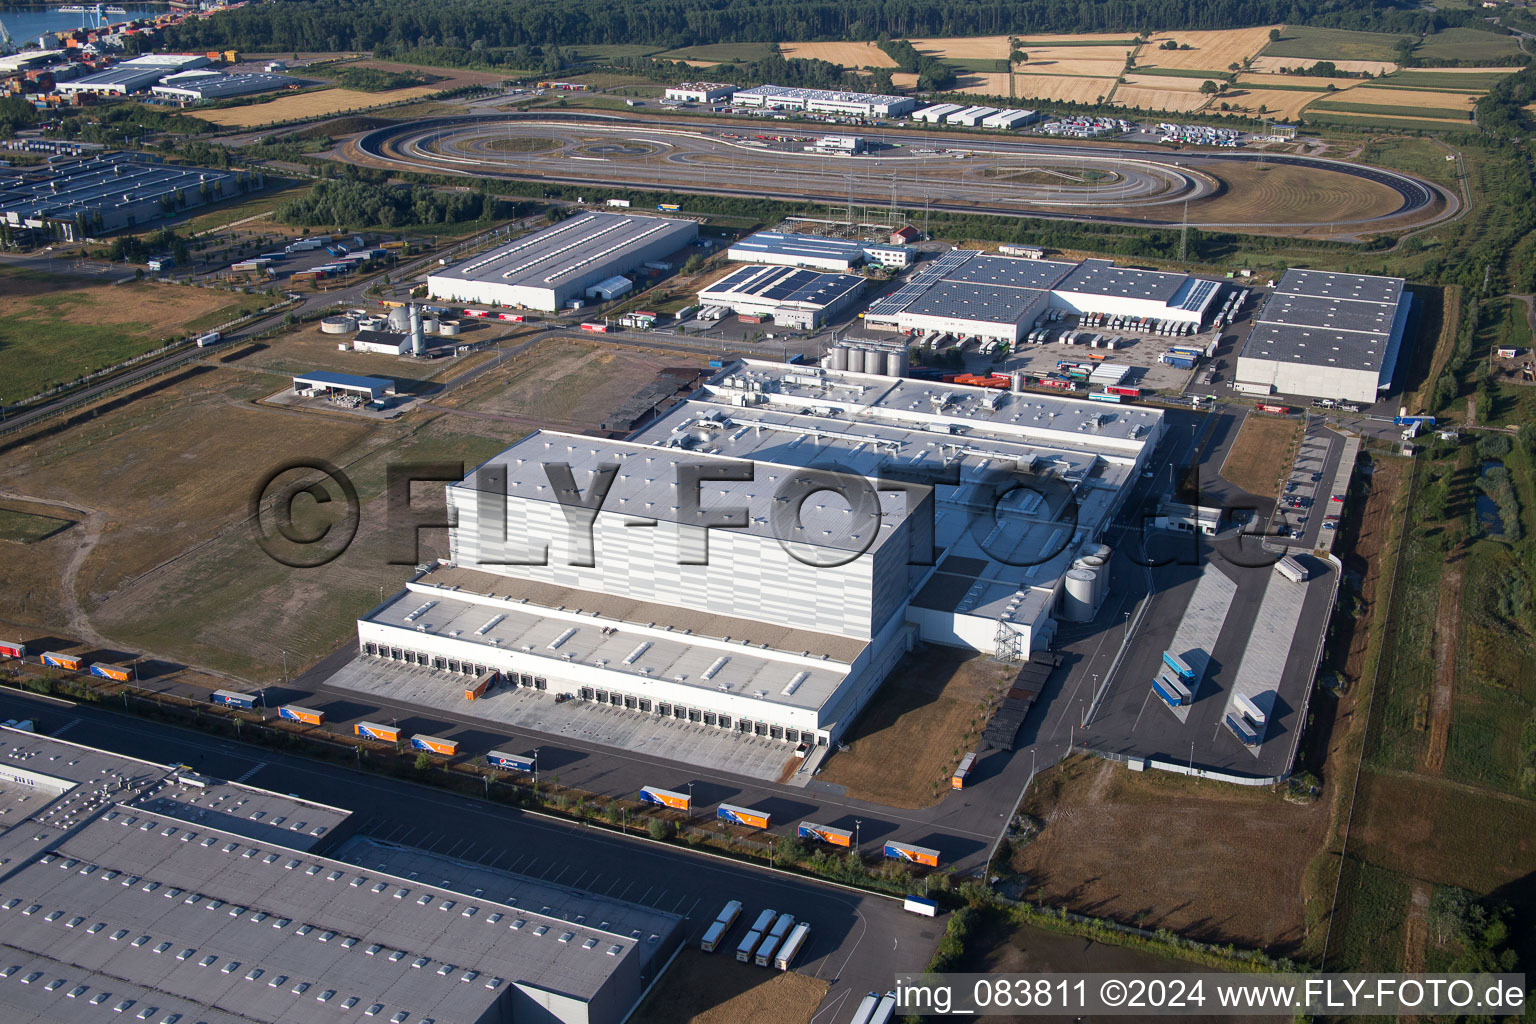
[[1220, 282], [1187, 273], [955, 249], [865, 312], [865, 327], [1017, 342], [1049, 309], [1200, 324]]

